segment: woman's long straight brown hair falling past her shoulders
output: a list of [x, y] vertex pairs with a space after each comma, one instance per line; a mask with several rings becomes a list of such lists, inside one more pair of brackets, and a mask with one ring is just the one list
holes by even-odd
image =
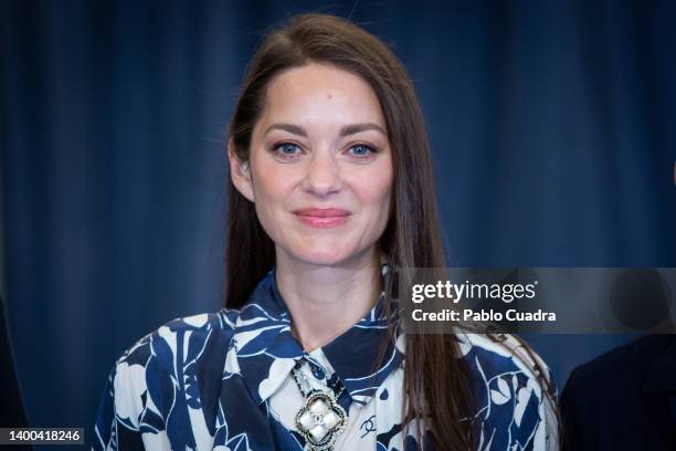
[[[391, 217], [379, 242], [390, 265], [443, 268], [430, 148], [413, 84], [388, 46], [353, 23], [327, 14], [297, 15], [264, 39], [250, 63], [230, 125], [237, 159], [249, 161], [252, 132], [271, 81], [310, 62], [361, 76], [380, 102], [394, 166]], [[244, 305], [274, 261], [274, 243], [253, 203], [231, 183], [225, 305]], [[395, 277], [387, 280], [385, 298], [394, 297], [395, 284]], [[475, 444], [472, 423], [463, 420], [475, 411], [474, 379], [460, 356], [453, 335], [405, 335], [404, 422], [424, 417], [439, 450], [467, 450]]]

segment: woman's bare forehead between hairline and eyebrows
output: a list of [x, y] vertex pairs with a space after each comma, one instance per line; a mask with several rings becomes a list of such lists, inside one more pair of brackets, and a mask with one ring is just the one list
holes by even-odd
[[270, 84], [261, 122], [372, 122], [385, 128], [380, 102], [360, 76], [310, 63], [277, 75]]

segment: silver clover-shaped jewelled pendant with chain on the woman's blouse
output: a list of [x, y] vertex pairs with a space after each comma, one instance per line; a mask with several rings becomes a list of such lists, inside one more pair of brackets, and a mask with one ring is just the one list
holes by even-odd
[[292, 369], [292, 375], [305, 398], [296, 413], [296, 428], [305, 437], [305, 451], [334, 451], [336, 438], [345, 429], [347, 413], [338, 403], [345, 387], [336, 394], [310, 388], [307, 377], [300, 371], [300, 361]]

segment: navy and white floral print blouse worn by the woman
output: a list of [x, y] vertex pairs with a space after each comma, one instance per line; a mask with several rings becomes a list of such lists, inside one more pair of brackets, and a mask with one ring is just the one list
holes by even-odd
[[[415, 426], [408, 432], [401, 424], [403, 334], [373, 368], [387, 332], [383, 300], [381, 294], [355, 326], [307, 353], [291, 334], [271, 270], [241, 311], [175, 319], [123, 354], [103, 395], [93, 449], [303, 450], [295, 415], [304, 399], [292, 377], [297, 361], [313, 388], [342, 388], [338, 402], [348, 419], [336, 450], [420, 449]], [[551, 406], [532, 360], [515, 358], [516, 339], [458, 338], [478, 380], [478, 449], [558, 449]]]

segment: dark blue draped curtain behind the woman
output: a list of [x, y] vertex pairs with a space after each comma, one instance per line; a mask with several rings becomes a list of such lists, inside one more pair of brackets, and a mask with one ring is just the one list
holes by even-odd
[[[676, 266], [676, 6], [4, 1], [0, 247], [34, 426], [91, 427], [114, 359], [220, 307], [224, 129], [265, 30], [351, 17], [426, 115], [464, 266]], [[539, 336], [562, 387], [621, 336]]]

